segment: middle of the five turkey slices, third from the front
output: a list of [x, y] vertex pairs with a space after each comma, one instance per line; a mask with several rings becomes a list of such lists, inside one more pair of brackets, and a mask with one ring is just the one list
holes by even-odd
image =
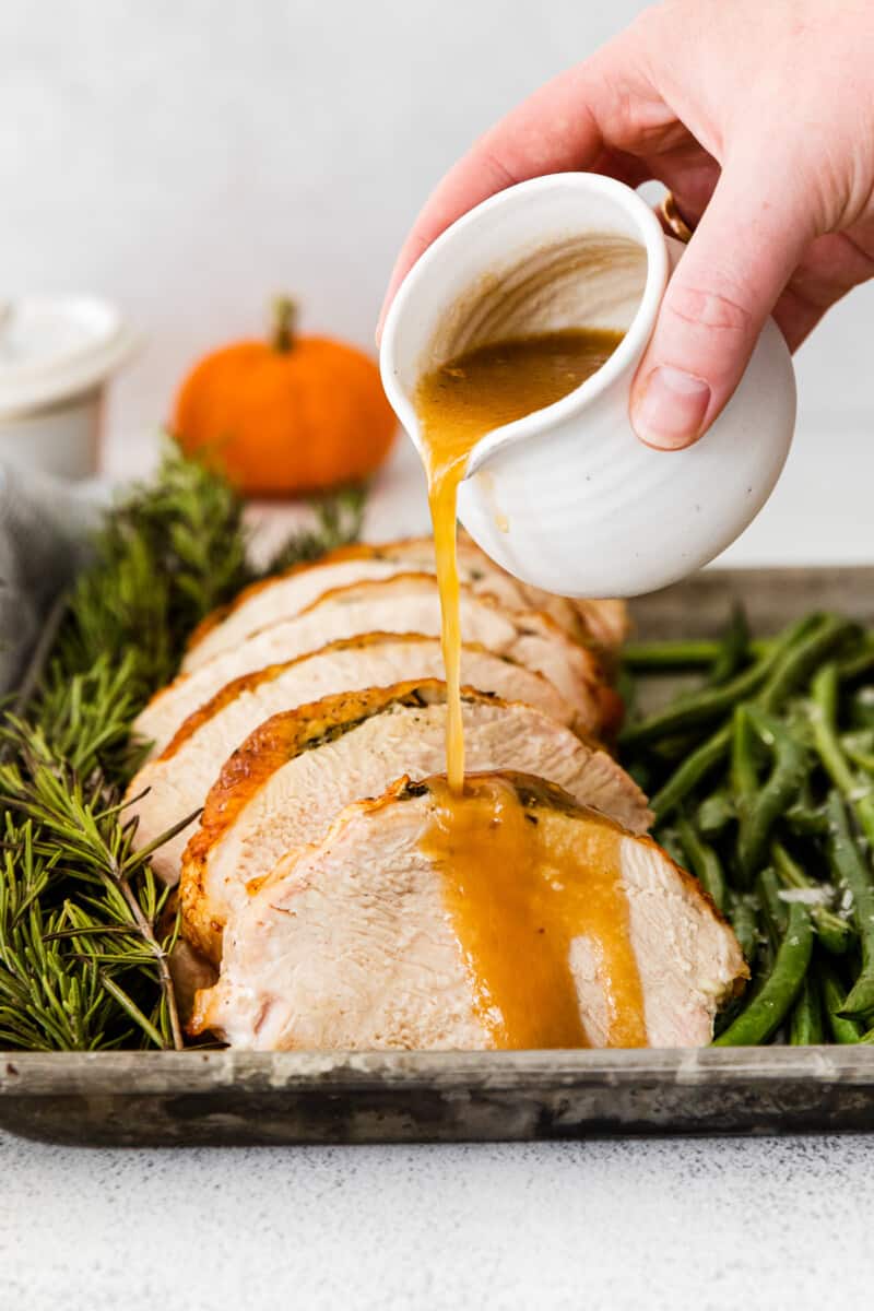
[[[138, 846], [148, 846], [186, 815], [193, 815], [203, 805], [231, 753], [278, 711], [292, 711], [337, 692], [426, 678], [443, 678], [439, 638], [366, 633], [235, 679], [190, 714], [161, 755], [149, 760], [131, 783], [128, 813], [138, 819]], [[552, 683], [506, 656], [464, 646], [461, 680], [480, 692], [495, 692], [503, 700], [535, 705], [561, 724], [570, 726], [575, 721], [573, 707]], [[193, 826], [194, 819], [152, 856], [152, 868], [168, 884], [180, 877], [182, 852]]]

